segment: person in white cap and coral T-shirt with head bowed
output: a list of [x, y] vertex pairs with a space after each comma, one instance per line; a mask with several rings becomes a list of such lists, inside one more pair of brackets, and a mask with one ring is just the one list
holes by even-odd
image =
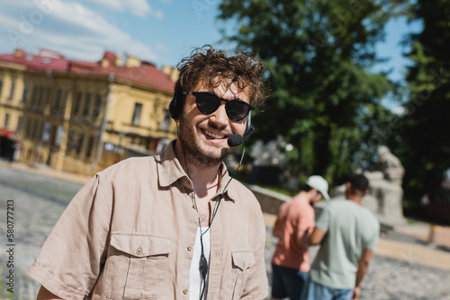
[[272, 299], [299, 300], [305, 294], [310, 270], [308, 248], [301, 239], [314, 227], [313, 205], [329, 200], [329, 184], [321, 176], [313, 175], [293, 199], [279, 210], [273, 234], [278, 238], [272, 258]]

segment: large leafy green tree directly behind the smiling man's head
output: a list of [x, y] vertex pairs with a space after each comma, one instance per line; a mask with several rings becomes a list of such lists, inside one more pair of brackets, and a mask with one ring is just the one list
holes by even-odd
[[[265, 61], [273, 90], [257, 114], [260, 138], [281, 135], [296, 147], [291, 172], [329, 179], [351, 172], [347, 157], [358, 150], [363, 126], [392, 89], [386, 75], [368, 68], [378, 62], [374, 44], [383, 39], [392, 1], [223, 0], [222, 20], [238, 23], [227, 35], [238, 49]], [[348, 155], [344, 157], [343, 154]]]

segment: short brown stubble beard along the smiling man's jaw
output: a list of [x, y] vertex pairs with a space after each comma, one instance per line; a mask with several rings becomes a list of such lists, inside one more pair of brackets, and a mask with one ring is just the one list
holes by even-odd
[[203, 149], [198, 135], [193, 128], [189, 127], [184, 113], [179, 120], [178, 138], [183, 147], [187, 163], [193, 163], [197, 168], [208, 169], [217, 166], [234, 151], [234, 148], [226, 147], [220, 149], [220, 154], [217, 155]]

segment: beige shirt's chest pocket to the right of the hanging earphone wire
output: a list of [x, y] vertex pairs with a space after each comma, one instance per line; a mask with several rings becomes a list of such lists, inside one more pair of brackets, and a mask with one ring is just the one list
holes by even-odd
[[247, 281], [247, 270], [255, 265], [253, 251], [231, 251], [233, 267], [231, 269], [232, 299], [240, 299]]

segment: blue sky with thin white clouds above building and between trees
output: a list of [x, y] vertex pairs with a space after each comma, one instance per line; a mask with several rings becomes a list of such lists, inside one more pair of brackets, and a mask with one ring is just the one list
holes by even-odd
[[[96, 61], [104, 50], [175, 66], [193, 47], [219, 44], [220, 0], [14, 0], [0, 4], [0, 53], [16, 48], [37, 53], [53, 49], [68, 58]], [[399, 45], [408, 31], [404, 18], [389, 22], [386, 41], [377, 46], [390, 61], [374, 70], [393, 69], [401, 79], [408, 60]]]

